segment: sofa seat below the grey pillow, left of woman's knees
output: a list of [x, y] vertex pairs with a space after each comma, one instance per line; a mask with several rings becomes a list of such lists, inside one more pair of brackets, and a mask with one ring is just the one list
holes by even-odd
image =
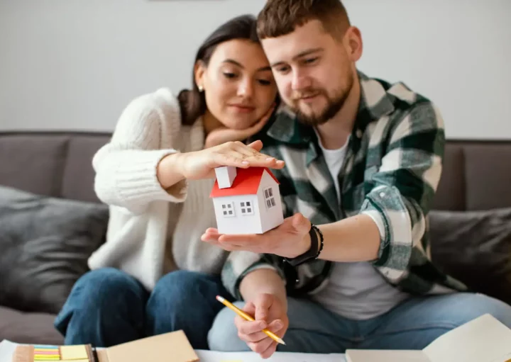
[[23, 313], [0, 307], [0, 341], [8, 339], [16, 343], [56, 344], [64, 343], [64, 337], [53, 327], [55, 315], [47, 313]]

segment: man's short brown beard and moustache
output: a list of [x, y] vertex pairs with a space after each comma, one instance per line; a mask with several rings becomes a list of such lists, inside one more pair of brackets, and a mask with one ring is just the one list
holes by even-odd
[[324, 90], [314, 90], [311, 89], [309, 91], [304, 91], [302, 94], [315, 94], [319, 93], [319, 96], [323, 96], [326, 98], [326, 106], [323, 108], [323, 110], [319, 114], [305, 114], [300, 110], [299, 106], [291, 107], [292, 111], [297, 116], [297, 119], [300, 123], [303, 123], [304, 125], [311, 125], [311, 126], [317, 126], [322, 125], [326, 123], [328, 120], [334, 117], [339, 111], [341, 111], [341, 108], [343, 108], [344, 103], [346, 102], [346, 98], [348, 98], [348, 95], [350, 94], [351, 88], [353, 87], [353, 77], [350, 77], [348, 80], [348, 84], [346, 86], [346, 89], [343, 89], [339, 92], [337, 92], [337, 95], [334, 98], [330, 98], [328, 94], [326, 94], [326, 91]]

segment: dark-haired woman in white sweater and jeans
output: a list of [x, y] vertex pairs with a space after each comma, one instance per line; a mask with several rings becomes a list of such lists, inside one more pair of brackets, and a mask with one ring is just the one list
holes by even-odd
[[193, 78], [177, 98], [158, 89], [133, 100], [94, 156], [109, 230], [55, 320], [66, 344], [112, 346], [183, 329], [195, 349], [207, 349], [222, 308], [215, 296], [229, 298], [219, 278], [226, 251], [201, 241], [216, 222], [214, 168], [283, 166], [258, 152], [260, 142], [229, 142], [263, 128], [277, 96], [255, 18], [215, 30]]

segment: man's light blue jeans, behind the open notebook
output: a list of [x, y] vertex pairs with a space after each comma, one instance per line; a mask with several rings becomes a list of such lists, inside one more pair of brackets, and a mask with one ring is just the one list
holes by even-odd
[[[243, 302], [235, 305], [242, 307]], [[351, 320], [305, 299], [288, 298], [290, 326], [278, 351], [344, 353], [346, 349], [423, 349], [436, 337], [490, 313], [511, 328], [511, 306], [485, 295], [456, 293], [410, 298], [390, 312]], [[234, 313], [225, 308], [209, 332], [215, 351], [249, 351], [238, 338]]]

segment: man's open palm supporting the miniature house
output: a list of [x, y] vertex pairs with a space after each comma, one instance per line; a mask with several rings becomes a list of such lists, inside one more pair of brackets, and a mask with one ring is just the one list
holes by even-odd
[[287, 217], [281, 225], [264, 234], [224, 235], [209, 228], [201, 239], [228, 251], [245, 250], [295, 258], [310, 249], [310, 227], [309, 220], [298, 213]]

